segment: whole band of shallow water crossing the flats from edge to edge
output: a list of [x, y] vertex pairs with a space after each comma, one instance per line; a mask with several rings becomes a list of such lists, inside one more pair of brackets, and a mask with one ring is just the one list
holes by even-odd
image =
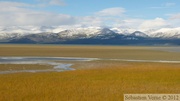
[[[91, 61], [89, 65], [94, 65], [95, 61], [112, 61], [112, 62], [130, 62], [130, 63], [168, 63], [168, 64], [179, 64], [180, 61], [169, 61], [169, 60], [138, 60], [138, 59], [104, 59], [104, 58], [78, 58], [78, 57], [0, 57], [0, 64], [11, 64], [11, 65], [49, 65], [53, 68], [49, 69], [30, 69], [30, 70], [4, 70], [0, 71], [0, 74], [10, 74], [10, 73], [22, 73], [22, 72], [62, 72], [76, 70], [78, 67], [73, 67], [76, 65], [75, 62], [88, 62]], [[93, 63], [94, 62], [94, 63]], [[84, 63], [86, 64], [86, 63]], [[88, 66], [84, 65], [84, 68]], [[80, 66], [81, 67], [81, 66]]]

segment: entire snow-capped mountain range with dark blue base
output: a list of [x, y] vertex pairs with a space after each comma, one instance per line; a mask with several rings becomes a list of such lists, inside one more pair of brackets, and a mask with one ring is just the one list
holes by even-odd
[[0, 43], [180, 45], [179, 28], [146, 31], [104, 27], [0, 27]]

